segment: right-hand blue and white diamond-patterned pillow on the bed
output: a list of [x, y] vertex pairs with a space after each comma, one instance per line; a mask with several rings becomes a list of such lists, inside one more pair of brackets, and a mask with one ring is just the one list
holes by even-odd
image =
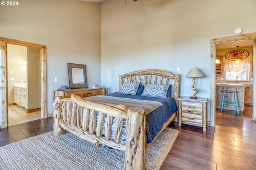
[[146, 84], [141, 96], [166, 98], [170, 84]]

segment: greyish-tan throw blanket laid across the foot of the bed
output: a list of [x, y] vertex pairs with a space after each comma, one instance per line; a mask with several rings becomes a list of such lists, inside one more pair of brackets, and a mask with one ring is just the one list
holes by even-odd
[[130, 99], [130, 98], [120, 98], [120, 97], [113, 97], [113, 96], [91, 96], [84, 98], [85, 100], [89, 100], [92, 102], [98, 102], [98, 103], [109, 103], [109, 104], [123, 104], [128, 109], [131, 109], [132, 111], [136, 111], [138, 108], [143, 108], [146, 111], [146, 115], [148, 113], [151, 113], [155, 109], [157, 109], [159, 106], [162, 106], [163, 104], [156, 101], [149, 101], [149, 100], [138, 100], [138, 99]]

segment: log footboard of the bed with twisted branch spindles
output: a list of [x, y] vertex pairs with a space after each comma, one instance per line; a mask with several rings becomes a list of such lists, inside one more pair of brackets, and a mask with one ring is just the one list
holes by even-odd
[[[131, 111], [123, 105], [106, 105], [83, 100], [72, 94], [71, 98], [56, 100], [54, 108], [54, 135], [66, 131], [94, 144], [104, 144], [125, 151], [124, 169], [144, 170], [146, 151], [146, 115], [143, 109]], [[98, 121], [96, 122], [96, 112]], [[106, 115], [105, 135], [102, 125]], [[113, 117], [117, 117], [114, 140], [110, 139]], [[126, 144], [120, 144], [122, 124], [126, 119]]]

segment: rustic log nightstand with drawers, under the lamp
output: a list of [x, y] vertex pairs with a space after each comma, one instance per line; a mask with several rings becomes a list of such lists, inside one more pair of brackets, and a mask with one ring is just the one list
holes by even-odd
[[207, 98], [190, 99], [188, 96], [178, 98], [179, 126], [181, 124], [202, 127], [206, 131]]

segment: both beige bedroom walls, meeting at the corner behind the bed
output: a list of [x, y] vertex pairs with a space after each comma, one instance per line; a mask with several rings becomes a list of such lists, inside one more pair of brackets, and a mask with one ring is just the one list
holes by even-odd
[[[125, 4], [126, 2], [126, 4]], [[118, 75], [158, 68], [181, 74], [182, 96], [191, 96], [192, 67], [198, 97], [208, 98], [210, 39], [256, 32], [255, 0], [20, 0], [0, 6], [0, 36], [47, 46], [47, 112], [53, 90], [68, 85], [67, 63], [86, 64], [88, 85], [118, 90]], [[180, 72], [177, 72], [180, 67]], [[58, 77], [58, 82], [54, 81]]]

